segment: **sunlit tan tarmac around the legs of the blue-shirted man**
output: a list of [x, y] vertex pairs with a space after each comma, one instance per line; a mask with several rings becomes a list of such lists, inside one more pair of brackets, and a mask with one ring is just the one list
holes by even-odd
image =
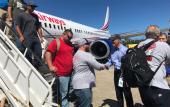
[[[96, 87], [93, 88], [93, 107], [118, 107], [113, 74], [113, 69], [96, 71]], [[135, 107], [144, 107], [138, 89], [132, 88], [131, 91]], [[124, 105], [126, 107], [125, 102]]]

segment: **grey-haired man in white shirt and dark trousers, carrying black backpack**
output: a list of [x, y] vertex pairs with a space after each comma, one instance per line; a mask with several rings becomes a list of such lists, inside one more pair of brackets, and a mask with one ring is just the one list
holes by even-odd
[[[160, 35], [160, 29], [156, 25], [150, 25], [146, 29], [146, 40], [139, 43], [141, 47], [153, 40], [157, 40]], [[170, 61], [170, 47], [165, 42], [156, 41], [146, 51], [147, 62], [155, 71], [162, 63], [154, 75], [149, 86], [139, 87], [141, 99], [145, 107], [170, 107], [170, 87], [166, 81], [165, 62]]]

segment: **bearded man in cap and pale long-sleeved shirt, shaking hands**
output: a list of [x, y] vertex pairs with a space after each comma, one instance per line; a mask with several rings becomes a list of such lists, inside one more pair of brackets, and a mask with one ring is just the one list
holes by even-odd
[[104, 64], [98, 63], [88, 52], [89, 42], [80, 39], [79, 49], [73, 57], [72, 85], [77, 97], [76, 107], [90, 107], [92, 103], [92, 87], [95, 86], [94, 69], [103, 70]]

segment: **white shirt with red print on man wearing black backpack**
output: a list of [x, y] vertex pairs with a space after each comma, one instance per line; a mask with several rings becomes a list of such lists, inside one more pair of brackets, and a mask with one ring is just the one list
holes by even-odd
[[[153, 39], [146, 39], [145, 41], [140, 42], [138, 47], [140, 48], [141, 46], [151, 42], [152, 40]], [[147, 61], [152, 71], [155, 71], [157, 67], [161, 64], [161, 62], [165, 60], [166, 61], [170, 60], [170, 47], [165, 42], [160, 41], [155, 42], [145, 51], [145, 53], [148, 56]], [[164, 62], [154, 75], [150, 83], [150, 86], [155, 86], [161, 89], [170, 89], [165, 77], [166, 69]]]

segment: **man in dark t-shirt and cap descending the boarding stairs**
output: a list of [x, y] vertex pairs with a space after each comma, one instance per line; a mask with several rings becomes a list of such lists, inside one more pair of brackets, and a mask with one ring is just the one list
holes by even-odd
[[[18, 33], [16, 44], [22, 53], [25, 51], [25, 47], [28, 47], [36, 56], [39, 57], [39, 59], [41, 59], [42, 48], [38, 38], [39, 34], [40, 39], [42, 39], [42, 32], [40, 30], [41, 23], [39, 22], [38, 18], [35, 17], [35, 14], [32, 14], [35, 7], [37, 7], [35, 4], [29, 2], [27, 4], [26, 12], [20, 13], [16, 17], [16, 31]], [[32, 62], [32, 53], [29, 51], [29, 49], [26, 54], [26, 58]], [[34, 66], [37, 67], [37, 65]]]

